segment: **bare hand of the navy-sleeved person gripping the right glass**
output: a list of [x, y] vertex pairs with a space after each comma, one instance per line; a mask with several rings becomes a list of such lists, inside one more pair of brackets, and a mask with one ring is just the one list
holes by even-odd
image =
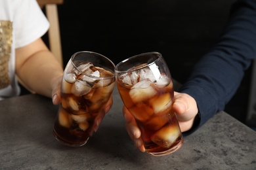
[[[176, 112], [179, 120], [181, 131], [188, 131], [193, 126], [194, 118], [198, 114], [198, 107], [193, 97], [186, 93], [175, 92], [173, 98], [173, 110]], [[135, 122], [135, 118], [131, 115], [126, 107], [123, 107], [123, 116], [125, 118], [125, 128], [135, 146], [141, 151], [145, 152], [145, 148], [140, 137], [140, 129]]]

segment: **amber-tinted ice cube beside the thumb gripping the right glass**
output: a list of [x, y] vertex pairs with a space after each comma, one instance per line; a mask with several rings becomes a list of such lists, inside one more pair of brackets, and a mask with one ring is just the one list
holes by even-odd
[[150, 105], [154, 109], [155, 113], [163, 112], [165, 110], [171, 109], [171, 94], [165, 93], [158, 97], [154, 97], [154, 99], [150, 100]]

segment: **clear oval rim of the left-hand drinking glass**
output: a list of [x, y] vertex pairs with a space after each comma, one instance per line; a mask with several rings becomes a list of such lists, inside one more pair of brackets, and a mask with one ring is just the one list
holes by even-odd
[[[81, 53], [96, 54], [96, 55], [98, 55], [98, 56], [101, 56], [101, 57], [107, 59], [107, 60], [112, 64], [112, 66], [114, 67], [114, 71], [113, 71], [114, 73], [113, 73], [113, 75], [112, 75], [112, 76], [108, 76], [108, 77], [98, 77], [98, 76], [89, 75], [89, 74], [87, 74], [87, 73], [83, 73], [83, 71], [81, 71], [80, 69], [78, 69], [77, 66], [75, 65], [75, 63], [73, 62], [73, 59], [75, 58], [75, 56], [77, 56], [77, 54], [81, 54]], [[91, 77], [91, 78], [95, 78], [95, 79], [98, 79], [98, 80], [104, 80], [104, 79], [115, 78], [115, 67], [116, 67], [116, 65], [115, 65], [115, 64], [113, 63], [113, 61], [111, 61], [109, 58], [107, 58], [106, 56], [103, 56], [102, 54], [99, 54], [99, 53], [97, 53], [97, 52], [91, 52], [91, 51], [79, 51], [79, 52], [75, 52], [75, 53], [71, 56], [71, 63], [72, 63], [72, 65], [73, 65], [73, 67], [74, 67], [77, 71], [79, 71], [81, 74], [86, 75], [86, 76], [89, 76], [89, 77]], [[102, 68], [102, 69], [103, 69], [103, 68]], [[106, 70], [106, 69], [104, 69], [104, 70]], [[110, 69], [110, 70], [111, 70], [111, 69]]]

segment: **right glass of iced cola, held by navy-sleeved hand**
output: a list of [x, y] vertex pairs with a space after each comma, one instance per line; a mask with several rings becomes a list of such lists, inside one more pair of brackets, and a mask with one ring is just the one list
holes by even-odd
[[173, 82], [161, 54], [125, 59], [115, 72], [118, 92], [137, 122], [146, 152], [163, 156], [181, 148], [183, 137], [172, 109]]

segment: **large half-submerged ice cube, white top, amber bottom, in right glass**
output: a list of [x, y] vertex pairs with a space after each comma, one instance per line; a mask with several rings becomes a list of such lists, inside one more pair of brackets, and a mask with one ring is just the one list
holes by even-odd
[[151, 84], [150, 80], [142, 80], [131, 88], [129, 95], [134, 103], [145, 101], [156, 95], [156, 90]]

